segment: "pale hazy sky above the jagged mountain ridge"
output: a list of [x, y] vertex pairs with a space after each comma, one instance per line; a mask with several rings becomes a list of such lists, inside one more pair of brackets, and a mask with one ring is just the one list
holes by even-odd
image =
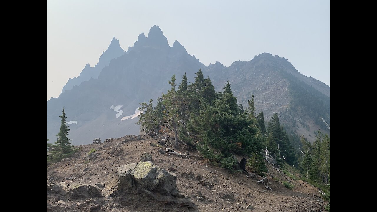
[[269, 52], [330, 85], [329, 0], [48, 0], [47, 99], [95, 66], [113, 36], [127, 51], [153, 25], [206, 66]]

